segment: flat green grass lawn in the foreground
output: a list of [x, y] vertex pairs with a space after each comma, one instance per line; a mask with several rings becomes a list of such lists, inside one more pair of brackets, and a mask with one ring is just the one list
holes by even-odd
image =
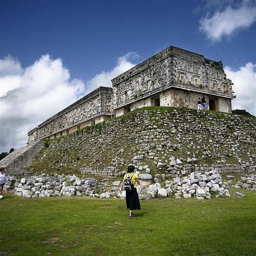
[[240, 192], [141, 201], [134, 219], [120, 199], [5, 194], [0, 255], [255, 255], [256, 193]]

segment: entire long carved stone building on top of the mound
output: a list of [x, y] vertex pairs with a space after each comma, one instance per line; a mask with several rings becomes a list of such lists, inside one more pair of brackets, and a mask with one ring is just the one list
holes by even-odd
[[170, 46], [112, 79], [28, 133], [28, 143], [52, 139], [95, 125], [111, 116], [145, 106], [197, 109], [206, 96], [207, 109], [231, 113], [232, 81], [223, 63]]

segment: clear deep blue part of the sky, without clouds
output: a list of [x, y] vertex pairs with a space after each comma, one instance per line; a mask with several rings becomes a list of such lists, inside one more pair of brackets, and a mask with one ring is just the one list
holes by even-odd
[[72, 77], [84, 80], [110, 70], [127, 52], [137, 52], [140, 62], [170, 45], [234, 69], [256, 59], [256, 23], [217, 43], [199, 31], [200, 19], [220, 6], [207, 3], [2, 0], [0, 56], [10, 54], [28, 66], [50, 54], [62, 59]]

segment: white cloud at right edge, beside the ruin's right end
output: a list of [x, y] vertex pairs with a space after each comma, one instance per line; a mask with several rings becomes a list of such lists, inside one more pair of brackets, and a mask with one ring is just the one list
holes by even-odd
[[232, 80], [236, 99], [232, 100], [232, 109], [245, 109], [251, 114], [256, 115], [256, 64], [248, 62], [234, 71], [226, 66], [227, 77]]

